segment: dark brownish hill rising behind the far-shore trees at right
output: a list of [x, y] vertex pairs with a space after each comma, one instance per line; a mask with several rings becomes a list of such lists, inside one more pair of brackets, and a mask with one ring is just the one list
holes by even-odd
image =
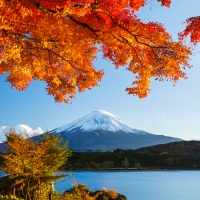
[[150, 147], [143, 147], [135, 150], [146, 153], [189, 153], [200, 156], [200, 141], [179, 141], [167, 144], [159, 144]]

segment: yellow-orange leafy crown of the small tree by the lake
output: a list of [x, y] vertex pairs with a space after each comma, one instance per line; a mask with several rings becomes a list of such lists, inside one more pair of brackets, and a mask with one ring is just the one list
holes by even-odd
[[38, 141], [27, 136], [14, 130], [7, 134], [8, 154], [2, 155], [1, 170], [9, 175], [34, 179], [52, 176], [72, 154], [67, 150], [68, 142], [62, 142], [59, 135], [45, 133]]

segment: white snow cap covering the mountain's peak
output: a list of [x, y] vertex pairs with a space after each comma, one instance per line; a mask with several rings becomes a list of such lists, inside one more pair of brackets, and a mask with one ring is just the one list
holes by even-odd
[[115, 115], [103, 110], [93, 111], [80, 119], [77, 119], [69, 124], [54, 129], [52, 132], [60, 133], [65, 130], [74, 132], [77, 129], [80, 129], [84, 132], [105, 130], [112, 132], [124, 131], [126, 133], [144, 133], [141, 130], [133, 129], [127, 126]]

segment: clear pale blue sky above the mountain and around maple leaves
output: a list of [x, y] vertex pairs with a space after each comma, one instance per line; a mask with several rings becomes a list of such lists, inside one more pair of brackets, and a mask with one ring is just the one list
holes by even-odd
[[[184, 29], [185, 19], [199, 15], [199, 3], [172, 0], [171, 8], [161, 7], [156, 1], [141, 9], [142, 21], [159, 21], [177, 40]], [[196, 1], [198, 2], [198, 1]], [[189, 41], [189, 40], [188, 40]], [[58, 104], [46, 94], [44, 82], [34, 82], [20, 92], [5, 83], [0, 76], [0, 127], [25, 124], [36, 129], [51, 130], [94, 110], [106, 110], [118, 116], [127, 125], [153, 134], [183, 139], [200, 138], [200, 48], [197, 45], [191, 57], [192, 69], [186, 70], [188, 79], [172, 82], [152, 80], [152, 92], [145, 99], [127, 95], [134, 75], [115, 66], [98, 55], [95, 66], [105, 69], [98, 87], [75, 96], [71, 104]]]

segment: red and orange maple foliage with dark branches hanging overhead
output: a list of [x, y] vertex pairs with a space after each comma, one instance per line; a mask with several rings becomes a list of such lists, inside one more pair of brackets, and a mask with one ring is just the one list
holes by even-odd
[[[167, 7], [171, 3], [157, 1]], [[7, 81], [18, 90], [33, 80], [45, 81], [57, 102], [68, 102], [77, 91], [98, 85], [104, 74], [93, 65], [98, 51], [116, 68], [126, 66], [136, 74], [126, 91], [140, 98], [149, 93], [152, 77], [173, 82], [186, 78], [183, 70], [190, 67], [191, 50], [182, 41], [173, 41], [159, 22], [145, 24], [137, 17], [146, 3], [1, 0], [0, 74], [8, 73]], [[188, 27], [181, 37], [190, 31]]]

